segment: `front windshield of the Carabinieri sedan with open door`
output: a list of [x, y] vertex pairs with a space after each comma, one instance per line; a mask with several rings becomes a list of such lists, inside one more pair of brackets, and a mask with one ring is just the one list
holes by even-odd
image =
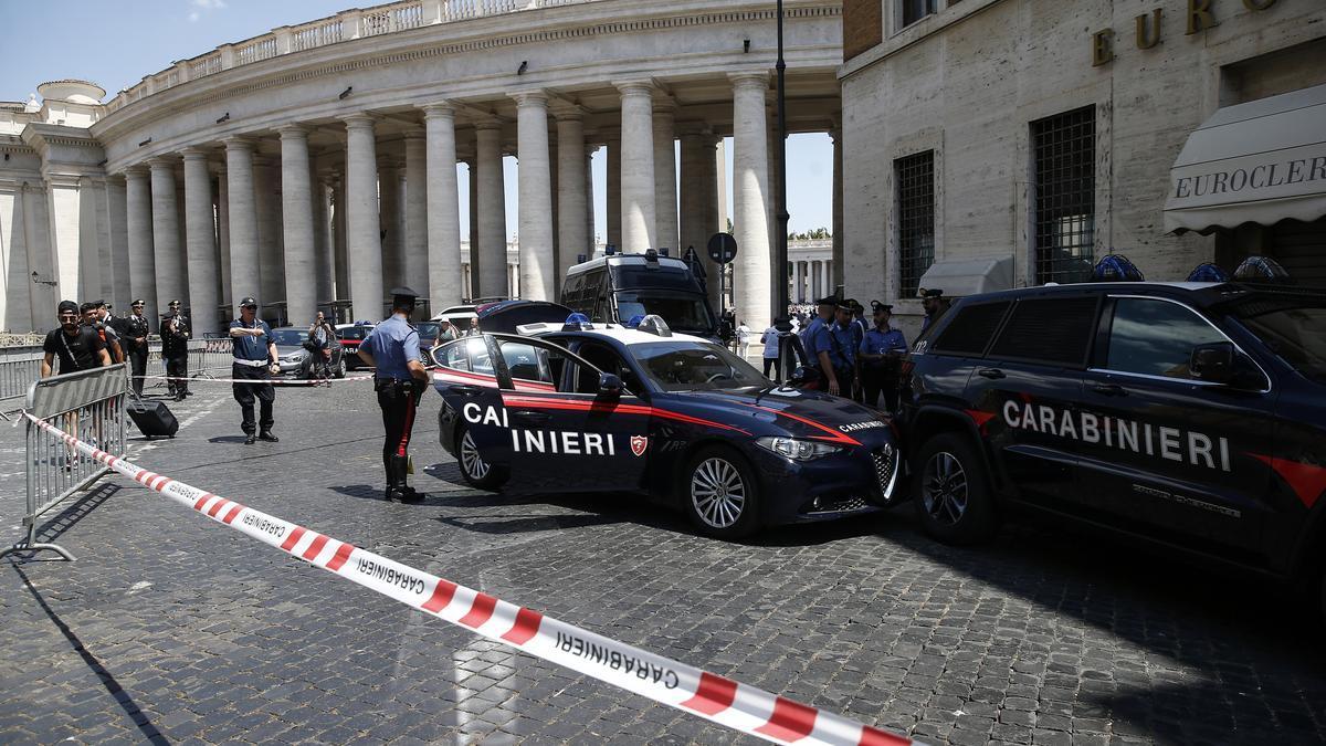
[[769, 386], [749, 362], [711, 342], [658, 341], [627, 348], [655, 384], [668, 392]]

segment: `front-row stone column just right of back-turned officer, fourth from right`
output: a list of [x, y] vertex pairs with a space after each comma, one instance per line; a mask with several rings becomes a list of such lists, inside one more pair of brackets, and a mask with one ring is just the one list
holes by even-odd
[[464, 295], [460, 267], [460, 185], [456, 183], [456, 110], [450, 104], [430, 104], [423, 108], [423, 125], [428, 159], [428, 299], [431, 311], [438, 313], [448, 305], [459, 304]]

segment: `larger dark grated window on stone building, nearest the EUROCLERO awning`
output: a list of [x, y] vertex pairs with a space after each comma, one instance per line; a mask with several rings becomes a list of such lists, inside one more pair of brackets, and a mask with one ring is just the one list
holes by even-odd
[[1091, 275], [1095, 238], [1095, 106], [1032, 122], [1036, 283]]

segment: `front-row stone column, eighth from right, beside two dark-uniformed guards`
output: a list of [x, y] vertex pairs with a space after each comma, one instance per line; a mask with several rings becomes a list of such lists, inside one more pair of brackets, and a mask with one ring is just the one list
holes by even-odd
[[207, 151], [186, 147], [184, 155], [184, 231], [188, 252], [188, 300], [194, 336], [219, 332], [216, 218], [212, 212], [212, 173], [207, 169]]

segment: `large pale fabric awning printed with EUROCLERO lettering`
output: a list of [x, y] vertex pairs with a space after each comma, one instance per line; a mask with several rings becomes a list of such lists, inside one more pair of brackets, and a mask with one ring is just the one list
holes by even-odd
[[1227, 106], [1170, 170], [1166, 231], [1326, 215], [1326, 85]]

